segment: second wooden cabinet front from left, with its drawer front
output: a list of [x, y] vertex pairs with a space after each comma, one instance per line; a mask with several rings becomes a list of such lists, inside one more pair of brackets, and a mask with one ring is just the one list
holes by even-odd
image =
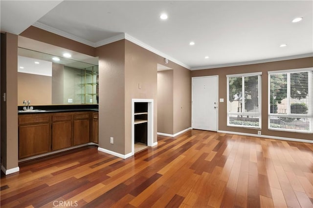
[[52, 151], [72, 146], [72, 114], [52, 115]]

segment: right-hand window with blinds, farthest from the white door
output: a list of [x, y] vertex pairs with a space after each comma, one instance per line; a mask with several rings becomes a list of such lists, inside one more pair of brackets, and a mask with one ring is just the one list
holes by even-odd
[[268, 129], [313, 132], [313, 68], [268, 72]]

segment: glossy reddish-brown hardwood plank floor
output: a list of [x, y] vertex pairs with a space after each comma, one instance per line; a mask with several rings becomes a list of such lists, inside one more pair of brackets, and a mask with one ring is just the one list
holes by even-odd
[[313, 144], [191, 130], [121, 159], [95, 147], [20, 164], [1, 208], [313, 207]]

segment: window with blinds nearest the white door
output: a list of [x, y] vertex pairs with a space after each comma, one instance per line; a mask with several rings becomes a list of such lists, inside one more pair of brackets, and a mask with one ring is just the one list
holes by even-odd
[[227, 75], [227, 126], [261, 128], [261, 75]]

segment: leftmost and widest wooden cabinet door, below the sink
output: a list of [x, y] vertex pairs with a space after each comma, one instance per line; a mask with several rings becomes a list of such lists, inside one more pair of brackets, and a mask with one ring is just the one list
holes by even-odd
[[49, 123], [19, 127], [19, 159], [49, 152], [50, 144]]

